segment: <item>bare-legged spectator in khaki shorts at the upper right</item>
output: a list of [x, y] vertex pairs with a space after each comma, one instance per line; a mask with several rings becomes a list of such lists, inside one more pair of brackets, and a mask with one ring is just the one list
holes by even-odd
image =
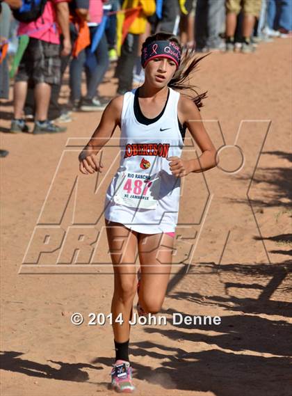
[[241, 52], [250, 53], [254, 51], [252, 45], [252, 32], [256, 17], [261, 13], [261, 0], [226, 0], [226, 51], [234, 51], [234, 33], [236, 30], [236, 19], [238, 13], [243, 10], [242, 36], [243, 44]]

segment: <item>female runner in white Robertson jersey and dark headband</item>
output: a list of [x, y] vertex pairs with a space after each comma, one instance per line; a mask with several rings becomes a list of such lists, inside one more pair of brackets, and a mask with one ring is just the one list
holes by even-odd
[[[104, 165], [96, 155], [115, 127], [120, 127], [120, 167], [108, 186], [104, 203], [114, 269], [111, 312], [113, 322], [119, 314], [124, 321], [113, 324], [116, 356], [111, 384], [117, 392], [131, 393], [135, 389], [129, 362], [129, 321], [136, 292], [138, 315], [159, 312], [165, 298], [179, 212], [180, 178], [216, 166], [216, 148], [199, 111], [206, 93], [197, 95], [188, 81], [200, 59], [194, 57], [193, 50], [181, 58], [181, 45], [174, 35], [150, 35], [142, 47], [143, 86], [111, 100], [79, 155], [81, 173], [102, 172]], [[177, 92], [184, 88], [195, 95], [187, 97]], [[200, 158], [188, 161], [180, 158], [186, 127], [202, 151]], [[136, 249], [140, 261], [138, 285]]]

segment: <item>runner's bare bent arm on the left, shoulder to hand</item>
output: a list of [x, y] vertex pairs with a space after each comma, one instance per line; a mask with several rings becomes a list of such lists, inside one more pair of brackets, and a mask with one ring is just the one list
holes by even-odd
[[79, 154], [79, 171], [88, 173], [102, 172], [103, 164], [97, 161], [96, 155], [108, 143], [117, 125], [120, 126], [123, 96], [117, 96], [108, 103], [97, 129], [92, 134], [90, 141]]

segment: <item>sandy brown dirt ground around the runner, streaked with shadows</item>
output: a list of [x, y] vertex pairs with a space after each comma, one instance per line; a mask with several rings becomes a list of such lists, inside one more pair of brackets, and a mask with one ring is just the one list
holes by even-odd
[[[102, 95], [115, 93], [112, 76]], [[289, 396], [291, 39], [211, 54], [193, 78], [209, 93], [202, 118], [220, 166], [182, 181], [167, 323], [131, 328], [136, 394]], [[89, 326], [88, 314], [111, 308], [102, 210], [120, 131], [104, 173], [81, 175], [77, 157], [101, 113], [74, 113], [56, 136], [10, 134], [11, 100], [1, 102], [1, 395], [112, 395], [111, 324]], [[187, 132], [183, 157], [196, 150]], [[175, 324], [175, 312], [221, 323]]]

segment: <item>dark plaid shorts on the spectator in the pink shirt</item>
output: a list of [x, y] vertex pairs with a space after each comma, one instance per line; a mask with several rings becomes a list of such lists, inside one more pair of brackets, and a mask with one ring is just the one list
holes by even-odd
[[15, 81], [60, 84], [60, 45], [29, 38]]

